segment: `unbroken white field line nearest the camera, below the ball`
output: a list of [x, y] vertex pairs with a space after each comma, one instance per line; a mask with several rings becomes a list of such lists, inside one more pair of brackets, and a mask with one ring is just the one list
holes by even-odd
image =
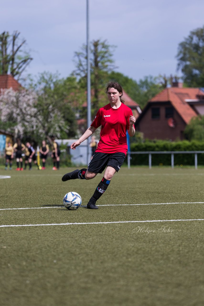
[[204, 221], [204, 219], [175, 219], [175, 220], [145, 220], [145, 221], [112, 221], [112, 222], [81, 222], [81, 223], [49, 223], [49, 224], [17, 224], [0, 225], [0, 227], [20, 226], [50, 226], [50, 225], [84, 225], [84, 224], [113, 224], [113, 223], [145, 223], [145, 222], [175, 222], [175, 221]]

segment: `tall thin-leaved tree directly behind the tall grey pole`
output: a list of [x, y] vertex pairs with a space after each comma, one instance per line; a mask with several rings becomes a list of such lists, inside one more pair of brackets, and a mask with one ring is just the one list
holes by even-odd
[[[93, 40], [90, 46], [90, 65], [91, 65], [91, 88], [94, 90], [92, 99], [93, 113], [98, 110], [99, 97], [104, 96], [104, 85], [107, 73], [114, 68], [113, 50], [115, 46], [109, 45], [107, 40]], [[73, 75], [80, 78], [80, 84], [86, 88], [87, 84], [87, 45], [83, 44], [79, 52], [75, 52], [76, 69]], [[102, 91], [103, 90], [103, 91]]]

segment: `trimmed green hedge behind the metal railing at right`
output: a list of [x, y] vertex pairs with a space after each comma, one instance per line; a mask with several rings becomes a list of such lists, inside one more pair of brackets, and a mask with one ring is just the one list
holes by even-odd
[[[143, 143], [131, 144], [131, 151], [204, 151], [204, 142], [199, 141], [177, 141], [166, 140], [145, 141]], [[132, 154], [131, 165], [148, 165], [148, 154]], [[126, 159], [127, 162], [127, 159]], [[171, 165], [171, 154], [152, 154], [152, 165]], [[175, 154], [174, 165], [194, 165], [194, 154]], [[198, 165], [204, 165], [204, 154], [198, 154]]]

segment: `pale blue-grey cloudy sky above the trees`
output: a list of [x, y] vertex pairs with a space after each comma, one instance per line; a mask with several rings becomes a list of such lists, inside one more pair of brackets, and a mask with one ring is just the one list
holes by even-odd
[[[203, 0], [89, 0], [90, 40], [116, 45], [117, 71], [139, 80], [176, 73], [178, 44], [204, 25]], [[86, 0], [6, 0], [0, 32], [19, 31], [31, 50], [26, 73], [74, 69], [73, 55], [86, 43]]]

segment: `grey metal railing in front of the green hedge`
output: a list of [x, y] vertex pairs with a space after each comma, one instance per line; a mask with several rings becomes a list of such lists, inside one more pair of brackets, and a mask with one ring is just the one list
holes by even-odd
[[195, 169], [198, 169], [198, 154], [204, 151], [137, 151], [127, 152], [128, 169], [130, 169], [131, 154], [149, 154], [149, 169], [152, 167], [152, 154], [171, 154], [171, 167], [174, 168], [174, 154], [195, 154]]

